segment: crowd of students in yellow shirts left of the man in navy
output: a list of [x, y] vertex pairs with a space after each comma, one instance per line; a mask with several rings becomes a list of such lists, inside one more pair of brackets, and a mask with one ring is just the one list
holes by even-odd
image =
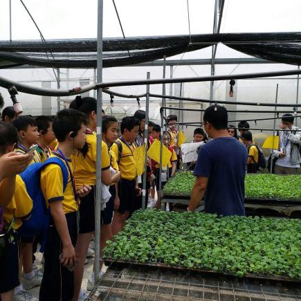
[[[1, 300], [36, 300], [27, 291], [35, 286], [40, 286], [39, 300], [82, 300], [84, 262], [95, 230], [97, 101], [77, 96], [69, 109], [59, 111], [54, 119], [12, 113], [0, 122], [0, 208], [3, 210], [0, 230], [7, 234], [10, 228], [6, 252], [0, 255]], [[102, 115], [101, 181], [111, 197], [101, 212], [100, 251], [106, 241], [122, 230], [131, 213], [141, 208], [142, 181], [137, 176], [134, 149], [145, 143], [145, 111], [138, 110], [134, 116], [122, 118], [120, 124], [115, 117], [104, 116], [104, 111]], [[171, 133], [163, 134], [163, 141], [172, 152], [166, 167], [170, 176], [176, 172], [178, 160]], [[149, 146], [160, 138], [161, 127], [150, 122]], [[34, 151], [33, 145], [37, 145]], [[19, 165], [12, 165], [11, 158]], [[62, 161], [67, 171], [66, 185], [62, 166], [49, 163], [53, 158]], [[45, 237], [42, 233], [22, 237], [19, 229], [30, 219], [33, 199], [19, 174], [35, 163], [42, 163], [39, 185], [51, 218]], [[154, 186], [159, 188], [158, 170], [158, 163], [147, 161], [150, 203], [154, 202]], [[34, 253], [42, 242], [44, 273], [39, 275]], [[93, 282], [91, 273], [87, 289], [93, 288]]]

